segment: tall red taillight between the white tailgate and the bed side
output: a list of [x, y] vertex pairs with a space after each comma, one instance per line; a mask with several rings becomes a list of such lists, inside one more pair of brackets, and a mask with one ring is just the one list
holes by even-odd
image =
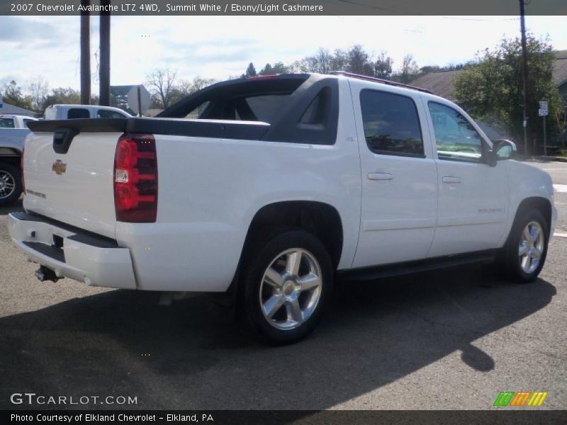
[[126, 133], [114, 157], [116, 220], [150, 223], [157, 216], [157, 156], [153, 135]]

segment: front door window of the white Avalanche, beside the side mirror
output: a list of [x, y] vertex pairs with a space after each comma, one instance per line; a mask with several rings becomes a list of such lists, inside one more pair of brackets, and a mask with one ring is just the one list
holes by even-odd
[[483, 139], [459, 112], [441, 103], [427, 103], [430, 109], [437, 157], [457, 161], [481, 162]]

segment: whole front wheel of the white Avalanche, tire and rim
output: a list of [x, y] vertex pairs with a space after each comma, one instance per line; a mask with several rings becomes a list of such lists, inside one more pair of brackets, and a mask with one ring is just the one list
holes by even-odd
[[544, 267], [549, 227], [541, 212], [532, 210], [519, 215], [507, 242], [505, 268], [510, 280], [532, 282]]

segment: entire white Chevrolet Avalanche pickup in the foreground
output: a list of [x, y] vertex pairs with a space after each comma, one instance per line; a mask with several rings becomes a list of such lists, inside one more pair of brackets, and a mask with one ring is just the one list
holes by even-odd
[[308, 334], [335, 276], [498, 261], [537, 278], [551, 179], [459, 106], [353, 74], [214, 84], [158, 118], [30, 124], [13, 242], [41, 280], [234, 294], [249, 329]]

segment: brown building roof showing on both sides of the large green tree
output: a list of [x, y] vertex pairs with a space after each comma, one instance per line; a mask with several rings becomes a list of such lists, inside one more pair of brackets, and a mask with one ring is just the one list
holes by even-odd
[[[553, 80], [556, 86], [561, 86], [562, 84], [567, 84], [567, 50], [559, 50], [555, 52], [555, 56]], [[453, 79], [459, 72], [462, 72], [462, 69], [430, 72], [417, 77], [411, 84], [412, 86], [430, 90], [437, 96], [449, 99], [449, 101], [455, 101]]]

